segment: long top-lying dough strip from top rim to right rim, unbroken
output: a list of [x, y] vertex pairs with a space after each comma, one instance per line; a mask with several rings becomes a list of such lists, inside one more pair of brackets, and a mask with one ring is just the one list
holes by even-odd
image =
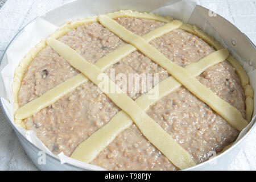
[[196, 78], [194, 78], [189, 72], [185, 71], [184, 68], [168, 60], [158, 51], [158, 49], [151, 46], [151, 44], [148, 44], [141, 36], [135, 35], [113, 19], [110, 19], [108, 16], [100, 15], [98, 16], [98, 19], [104, 27], [108, 28], [126, 42], [133, 44], [133, 46], [137, 47], [139, 51], [144, 53], [144, 55], [166, 69], [168, 73], [181, 82], [185, 88], [192, 92], [196, 97], [200, 98], [201, 101], [208, 104], [238, 131], [242, 131], [242, 129], [247, 126], [248, 123], [243, 119], [240, 111], [228, 102], [216, 96], [216, 94], [201, 84], [200, 81], [196, 80]]

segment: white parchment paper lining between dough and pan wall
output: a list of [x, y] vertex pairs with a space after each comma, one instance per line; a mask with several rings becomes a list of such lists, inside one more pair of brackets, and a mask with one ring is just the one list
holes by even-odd
[[[157, 3], [157, 1], [155, 1], [155, 3]], [[147, 4], [145, 4], [144, 6], [147, 6]], [[195, 9], [195, 6], [196, 6], [195, 1], [170, 1], [168, 3], [168, 6], [160, 7], [159, 9], [152, 11], [152, 13], [156, 13], [164, 16], [166, 15], [172, 16], [175, 19], [181, 19], [183, 20], [183, 22], [187, 23], [193, 10]], [[9, 117], [10, 121], [13, 123], [14, 123], [14, 117], [13, 117], [13, 98], [12, 98], [12, 92], [11, 92], [11, 85], [13, 83], [14, 70], [16, 67], [18, 67], [20, 60], [23, 59], [23, 57], [26, 55], [28, 51], [30, 51], [32, 47], [34, 47], [37, 43], [39, 43], [40, 40], [46, 39], [50, 34], [55, 32], [57, 28], [59, 27], [55, 26], [52, 23], [47, 22], [43, 18], [40, 18], [40, 17], [36, 18], [32, 23], [28, 24], [28, 26], [24, 28], [22, 34], [20, 34], [18, 38], [14, 40], [14, 42], [11, 44], [11, 46], [6, 52], [7, 56], [4, 57], [4, 59], [7, 59], [7, 65], [5, 66], [5, 68], [3, 68], [1, 72], [1, 76], [5, 85], [5, 97], [1, 97], [1, 101], [3, 103], [3, 108], [7, 113], [7, 117]], [[214, 28], [208, 22], [205, 22], [205, 27], [203, 28], [203, 30], [205, 32], [210, 32], [210, 35], [212, 35], [216, 40], [218, 40], [218, 42], [222, 44], [222, 46], [225, 47], [226, 44], [224, 43], [224, 41], [221, 39], [218, 33], [214, 30]], [[232, 52], [232, 54], [238, 59], [238, 61], [240, 61], [241, 65], [243, 66], [247, 75], [250, 78], [251, 86], [253, 86], [255, 90], [256, 88], [255, 70], [253, 70], [252, 67], [250, 67], [247, 63], [245, 63], [245, 61], [242, 61], [241, 58], [238, 55], [236, 55], [235, 52]], [[256, 105], [255, 100], [254, 100], [254, 105]], [[253, 117], [255, 117], [255, 107], [254, 107]], [[250, 122], [250, 124], [240, 133], [237, 140], [241, 139], [247, 133], [247, 131], [250, 129], [252, 125], [253, 125], [253, 122]], [[48, 148], [38, 139], [38, 137], [36, 137], [34, 131], [26, 131], [23, 128], [18, 128], [18, 130], [31, 143], [35, 144], [35, 146], [47, 152], [48, 154], [53, 155], [52, 152], [49, 151]], [[102, 170], [102, 168], [100, 167], [97, 167], [91, 164], [86, 164], [78, 160], [69, 158], [68, 156], [65, 156], [63, 152], [57, 155], [57, 158], [60, 159], [61, 164], [71, 163], [86, 169]]]

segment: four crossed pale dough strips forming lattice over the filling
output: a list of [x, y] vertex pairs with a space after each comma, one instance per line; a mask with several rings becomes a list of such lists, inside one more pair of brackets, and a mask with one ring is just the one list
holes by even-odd
[[[123, 15], [127, 14], [124, 13]], [[94, 84], [98, 85], [100, 82], [97, 80], [97, 75], [103, 74], [102, 70], [108, 68], [114, 63], [117, 63], [123, 57], [129, 55], [129, 53], [139, 49], [139, 51], [143, 52], [144, 55], [148, 56], [152, 61], [155, 61], [166, 69], [173, 77], [170, 76], [159, 82], [158, 85], [160, 93], [156, 100], [148, 100], [148, 93], [137, 98], [135, 101], [131, 100], [131, 98], [125, 93], [122, 93], [121, 90], [119, 90], [118, 93], [105, 93], [122, 109], [122, 111], [115, 114], [110, 122], [82, 142], [71, 155], [72, 158], [79, 159], [87, 163], [92, 162], [92, 160], [96, 158], [96, 156], [104, 150], [104, 148], [108, 146], [108, 144], [110, 144], [114, 138], [121, 133], [121, 131], [130, 127], [134, 121], [143, 135], [164, 155], [166, 155], [167, 158], [175, 164], [175, 166], [184, 169], [195, 165], [195, 162], [193, 162], [188, 152], [179, 146], [179, 144], [177, 144], [175, 140], [166, 133], [166, 131], [164, 131], [144, 112], [150, 105], [179, 88], [181, 85], [184, 85], [188, 90], [194, 93], [195, 96], [207, 103], [213, 110], [216, 110], [218, 114], [226, 119], [226, 121], [231, 125], [236, 127], [237, 130], [241, 131], [247, 125], [247, 122], [242, 118], [240, 111], [227, 102], [221, 100], [221, 98], [216, 96], [195, 79], [196, 76], [200, 75], [208, 67], [217, 64], [220, 61], [224, 61], [229, 54], [226, 49], [216, 51], [197, 63], [192, 63], [187, 65], [187, 67], [182, 68], [172, 63], [157, 49], [148, 44], [150, 40], [183, 26], [182, 22], [174, 20], [140, 37], [110, 19], [113, 18], [113, 16], [116, 15], [113, 13], [109, 16], [99, 16], [98, 20], [103, 26], [130, 44], [109, 53], [109, 55], [102, 57], [102, 59], [98, 60], [97, 63], [93, 65], [84, 60], [75, 50], [67, 45], [56, 39], [48, 39], [48, 46], [52, 47], [65, 60], [67, 60], [69, 64], [81, 71], [81, 73], [73, 78], [69, 78], [63, 83], [57, 85], [55, 88], [48, 90], [48, 92], [43, 94], [43, 96], [21, 107], [16, 112], [15, 118], [23, 119], [30, 117], [32, 114], [51, 105], [68, 92], [74, 90], [77, 86], [82, 84], [82, 82], [88, 81], [88, 78], [94, 82]], [[166, 22], [170, 21], [170, 19], [163, 19], [161, 16], [156, 16], [156, 18]], [[189, 29], [191, 27], [185, 28]], [[242, 73], [240, 73], [240, 75], [241, 74]], [[109, 80], [109, 84], [110, 82], [111, 81]], [[116, 86], [116, 88], [119, 89], [118, 86]], [[204, 90], [203, 94], [202, 90]], [[43, 104], [41, 104], [42, 101]], [[156, 135], [153, 133], [156, 133]]]

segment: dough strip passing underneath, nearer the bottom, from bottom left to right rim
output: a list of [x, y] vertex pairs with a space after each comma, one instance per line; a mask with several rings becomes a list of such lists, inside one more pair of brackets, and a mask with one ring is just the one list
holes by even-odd
[[[205, 69], [212, 67], [213, 65], [224, 61], [229, 55], [227, 49], [221, 49], [211, 53], [210, 55], [204, 57], [197, 63], [189, 64], [185, 69], [190, 72], [194, 77], [199, 76], [205, 71]], [[167, 96], [177, 88], [181, 86], [174, 78], [168, 77], [163, 81], [159, 82], [159, 97], [155, 100], [149, 99], [150, 92], [143, 94], [135, 102], [146, 111], [151, 105], [156, 101], [159, 101], [164, 96]], [[156, 88], [156, 87], [155, 87]], [[155, 89], [153, 88], [153, 89]], [[72, 158], [83, 159], [84, 162], [92, 162], [101, 151], [103, 151], [110, 143], [113, 142], [115, 137], [117, 137], [123, 130], [129, 128], [133, 121], [124, 111], [119, 111], [114, 117], [99, 130], [94, 132], [90, 137], [84, 142], [79, 144], [79, 147], [71, 155]]]

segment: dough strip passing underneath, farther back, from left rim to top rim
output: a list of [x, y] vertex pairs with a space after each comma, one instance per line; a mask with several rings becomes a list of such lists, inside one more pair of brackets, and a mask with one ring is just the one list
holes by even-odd
[[[151, 40], [156, 39], [159, 36], [166, 34], [167, 32], [170, 32], [172, 30], [179, 28], [182, 24], [183, 23], [180, 20], [174, 20], [170, 23], [164, 24], [164, 26], [162, 27], [156, 28], [155, 30], [148, 32], [148, 34], [143, 35], [142, 37], [146, 40], [146, 42], [150, 42]], [[50, 38], [53, 38], [55, 36], [51, 36]], [[104, 69], [117, 63], [119, 60], [123, 59], [123, 57], [126, 57], [131, 52], [134, 52], [136, 50], [137, 48], [128, 44], [102, 57], [100, 60], [98, 60], [95, 63], [95, 65], [103, 71]], [[84, 75], [81, 73], [73, 78], [69, 78], [68, 80], [65, 80], [61, 84], [57, 85], [55, 88], [48, 90], [42, 96], [20, 107], [20, 109], [18, 109], [18, 111], [16, 111], [15, 113], [15, 118], [20, 120], [20, 119], [30, 117], [32, 114], [37, 113], [39, 110], [49, 105], [52, 105], [61, 97], [65, 96], [65, 94], [76, 89], [77, 86], [81, 85], [83, 82], [86, 82], [86, 81], [88, 81], [88, 79], [84, 77]], [[18, 94], [18, 92], [16, 93]]]

